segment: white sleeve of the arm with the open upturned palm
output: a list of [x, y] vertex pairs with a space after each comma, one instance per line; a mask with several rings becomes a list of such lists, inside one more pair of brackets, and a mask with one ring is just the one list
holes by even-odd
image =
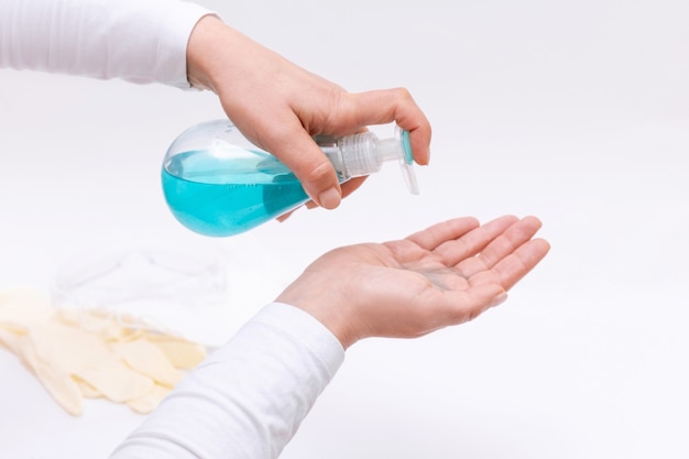
[[276, 458], [343, 360], [340, 342], [314, 317], [267, 305], [110, 459]]

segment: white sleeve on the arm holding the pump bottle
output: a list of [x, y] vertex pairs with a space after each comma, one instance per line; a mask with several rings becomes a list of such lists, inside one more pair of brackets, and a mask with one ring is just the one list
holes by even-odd
[[0, 67], [188, 88], [205, 8], [179, 0], [2, 0]]

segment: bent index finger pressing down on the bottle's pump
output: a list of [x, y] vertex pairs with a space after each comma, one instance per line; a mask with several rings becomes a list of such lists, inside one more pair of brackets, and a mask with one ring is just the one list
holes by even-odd
[[414, 161], [428, 164], [430, 156], [430, 123], [404, 88], [374, 90], [351, 95], [350, 110], [359, 125], [385, 124], [395, 121], [409, 132]]

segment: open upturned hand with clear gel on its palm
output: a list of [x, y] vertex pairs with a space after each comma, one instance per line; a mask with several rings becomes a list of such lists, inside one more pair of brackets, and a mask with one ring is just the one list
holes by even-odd
[[278, 297], [320, 320], [344, 349], [367, 337], [412, 338], [471, 320], [546, 255], [535, 217], [466, 217], [400, 241], [336, 249]]

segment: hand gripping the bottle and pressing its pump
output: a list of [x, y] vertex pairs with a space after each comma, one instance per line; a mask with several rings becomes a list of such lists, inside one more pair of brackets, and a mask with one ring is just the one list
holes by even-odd
[[189, 81], [215, 91], [227, 116], [289, 167], [319, 206], [332, 209], [364, 177], [341, 187], [313, 136], [347, 135], [392, 121], [409, 131], [416, 163], [428, 164], [430, 124], [407, 90], [350, 94], [222, 23], [203, 18], [187, 46]]

